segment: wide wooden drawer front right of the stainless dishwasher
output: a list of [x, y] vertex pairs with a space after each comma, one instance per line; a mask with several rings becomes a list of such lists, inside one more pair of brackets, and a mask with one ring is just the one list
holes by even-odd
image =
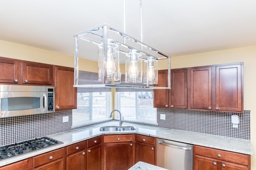
[[225, 150], [219, 150], [219, 149], [212, 149], [207, 147], [201, 147], [201, 146], [194, 146], [195, 148], [195, 154], [206, 156], [214, 159], [219, 160], [225, 160], [228, 162], [234, 162], [237, 164], [242, 165], [248, 165], [250, 161], [250, 155], [247, 154], [241, 154], [236, 152], [230, 152]]

